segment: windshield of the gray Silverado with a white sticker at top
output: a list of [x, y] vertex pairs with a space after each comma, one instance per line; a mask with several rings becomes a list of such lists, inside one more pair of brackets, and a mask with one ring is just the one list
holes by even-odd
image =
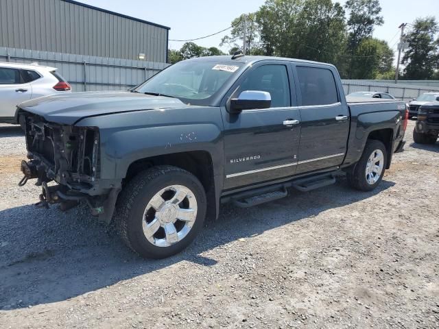
[[239, 62], [178, 62], [157, 73], [134, 91], [176, 97], [195, 105], [208, 105], [209, 99], [242, 65]]

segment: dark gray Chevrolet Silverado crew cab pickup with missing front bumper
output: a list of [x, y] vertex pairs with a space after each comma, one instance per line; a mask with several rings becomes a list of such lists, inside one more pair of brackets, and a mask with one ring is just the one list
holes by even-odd
[[346, 102], [330, 64], [196, 58], [128, 92], [22, 103], [20, 184], [36, 178], [38, 206], [86, 202], [134, 252], [163, 258], [189, 245], [224, 202], [272, 202], [342, 173], [372, 190], [403, 149], [407, 115], [401, 101]]

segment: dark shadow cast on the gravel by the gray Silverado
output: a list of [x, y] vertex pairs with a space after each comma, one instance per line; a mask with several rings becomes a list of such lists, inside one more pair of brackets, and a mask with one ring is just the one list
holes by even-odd
[[215, 268], [221, 260], [208, 256], [215, 247], [296, 221], [312, 221], [310, 217], [324, 210], [360, 202], [391, 186], [393, 182], [383, 181], [375, 191], [361, 193], [341, 178], [333, 186], [293, 192], [255, 208], [226, 205], [190, 247], [164, 260], [139, 258], [115, 234], [107, 234], [84, 207], [67, 213], [30, 205], [2, 210], [0, 309], [67, 300], [180, 262]]

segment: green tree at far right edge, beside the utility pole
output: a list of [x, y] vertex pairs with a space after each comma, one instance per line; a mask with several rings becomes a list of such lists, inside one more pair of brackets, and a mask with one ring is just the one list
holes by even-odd
[[405, 36], [405, 42], [408, 43], [402, 60], [402, 64], [406, 64], [405, 79], [422, 80], [433, 77], [439, 60], [439, 39], [435, 40], [438, 32], [438, 22], [434, 17], [414, 21], [412, 30]]

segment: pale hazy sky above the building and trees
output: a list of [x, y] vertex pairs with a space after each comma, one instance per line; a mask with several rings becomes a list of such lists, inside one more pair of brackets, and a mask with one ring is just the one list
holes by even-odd
[[[255, 12], [265, 0], [79, 0], [99, 8], [119, 12], [145, 21], [171, 27], [169, 39], [186, 40], [213, 34], [230, 26], [241, 14]], [[335, 1], [334, 1], [335, 2]], [[339, 0], [344, 4], [346, 0]], [[439, 0], [381, 0], [384, 25], [377, 27], [376, 38], [386, 40], [396, 51], [399, 25], [412, 23], [416, 17], [436, 16]], [[219, 47], [227, 32], [195, 41], [204, 47]], [[169, 48], [180, 49], [184, 42], [169, 41]], [[222, 48], [224, 51], [228, 49]]]

